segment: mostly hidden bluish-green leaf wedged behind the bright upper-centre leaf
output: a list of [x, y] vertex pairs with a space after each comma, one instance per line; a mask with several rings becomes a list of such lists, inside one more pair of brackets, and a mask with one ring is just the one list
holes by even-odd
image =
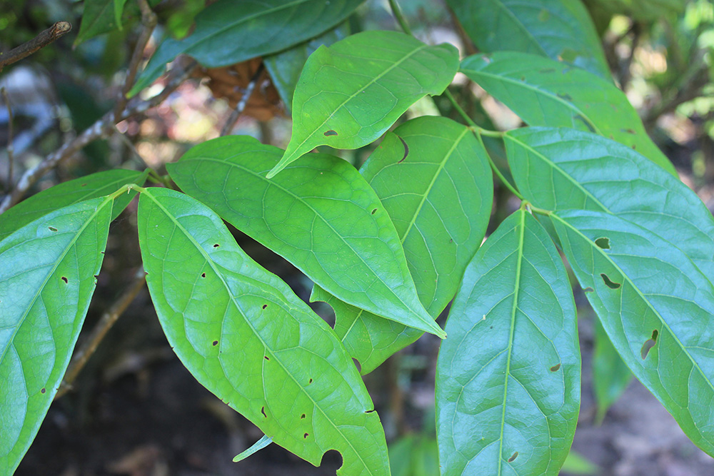
[[300, 73], [303, 71], [303, 66], [305, 66], [308, 57], [320, 46], [330, 46], [336, 41], [346, 38], [349, 34], [349, 23], [344, 22], [306, 43], [298, 44], [291, 49], [263, 58], [263, 64], [266, 65], [273, 85], [278, 90], [280, 98], [288, 111], [290, 111], [293, 103], [293, 93], [295, 93], [298, 79], [300, 79]]

